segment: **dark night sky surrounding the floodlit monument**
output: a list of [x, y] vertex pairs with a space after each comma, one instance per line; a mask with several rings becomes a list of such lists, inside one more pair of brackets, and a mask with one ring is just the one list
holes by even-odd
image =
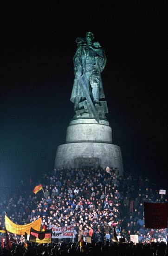
[[52, 171], [74, 115], [75, 40], [91, 31], [107, 57], [106, 116], [124, 171], [167, 189], [166, 6], [79, 2], [2, 4], [0, 185]]

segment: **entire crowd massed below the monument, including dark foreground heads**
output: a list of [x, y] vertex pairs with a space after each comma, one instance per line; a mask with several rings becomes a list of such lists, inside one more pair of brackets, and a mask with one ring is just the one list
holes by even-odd
[[[93, 250], [117, 256], [139, 255], [142, 250], [142, 255], [167, 255], [167, 229], [145, 229], [143, 202], [167, 202], [167, 195], [161, 197], [147, 176], [121, 176], [117, 168], [108, 172], [101, 167], [58, 168], [43, 174], [38, 182], [32, 181], [26, 184], [22, 180], [21, 193], [1, 198], [1, 229], [5, 229], [5, 215], [19, 225], [41, 217], [42, 230], [73, 224], [73, 238], [53, 239], [52, 244], [28, 243], [25, 249], [25, 237], [10, 234], [13, 251], [9, 255], [91, 255]], [[34, 194], [33, 188], [39, 184], [43, 190]], [[123, 243], [114, 240], [114, 229], [116, 240]], [[138, 235], [139, 243], [131, 242], [130, 235]], [[1, 236], [5, 242], [5, 235]], [[79, 248], [81, 238], [84, 251]], [[5, 249], [1, 248], [2, 255]]]

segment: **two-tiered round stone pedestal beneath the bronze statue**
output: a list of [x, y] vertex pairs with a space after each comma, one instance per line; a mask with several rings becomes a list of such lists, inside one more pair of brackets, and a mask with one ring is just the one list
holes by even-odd
[[109, 122], [94, 118], [76, 118], [66, 131], [66, 143], [58, 146], [55, 168], [118, 168], [123, 174], [120, 147], [112, 144]]

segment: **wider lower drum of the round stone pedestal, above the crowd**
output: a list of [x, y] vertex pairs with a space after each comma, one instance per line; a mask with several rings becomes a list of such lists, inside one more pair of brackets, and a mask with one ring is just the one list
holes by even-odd
[[[97, 162], [98, 159], [98, 162]], [[78, 160], [78, 161], [77, 161]], [[92, 166], [97, 168], [112, 167], [119, 170], [119, 175], [123, 175], [123, 160], [120, 147], [98, 142], [77, 142], [67, 143], [58, 146], [55, 168], [80, 168], [90, 161]], [[78, 166], [77, 166], [78, 163]]]

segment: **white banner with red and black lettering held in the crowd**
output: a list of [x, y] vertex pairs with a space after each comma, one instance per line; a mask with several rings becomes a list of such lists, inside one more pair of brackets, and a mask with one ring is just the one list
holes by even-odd
[[52, 229], [52, 238], [72, 238], [73, 237], [73, 225], [65, 226], [65, 227], [55, 227], [50, 225], [50, 229]]

